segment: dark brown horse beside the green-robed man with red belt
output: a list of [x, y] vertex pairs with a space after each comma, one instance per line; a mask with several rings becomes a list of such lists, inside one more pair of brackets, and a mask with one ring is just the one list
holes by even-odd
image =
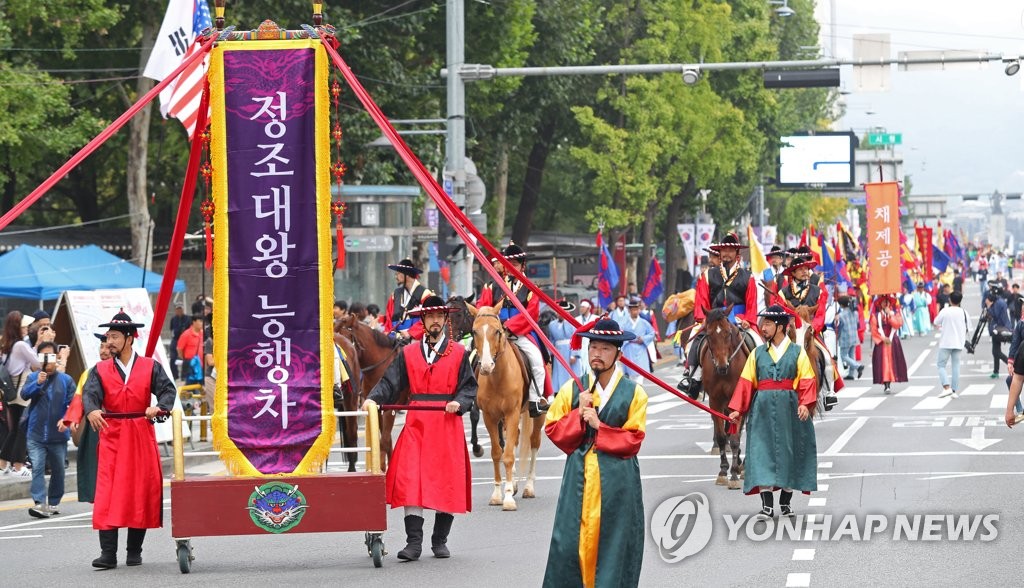
[[[732, 392], [739, 382], [739, 374], [743, 371], [743, 364], [746, 363], [748, 355], [739, 329], [729, 322], [731, 310], [732, 305], [727, 308], [705, 311], [706, 319], [702, 330], [706, 343], [700, 352], [700, 369], [703, 372], [701, 382], [708, 393], [708, 405], [713, 410], [724, 414], [729, 413], [729, 402], [732, 401]], [[740, 426], [737, 425], [735, 432], [728, 434], [723, 419], [713, 416], [712, 422], [715, 425], [715, 445], [718, 447], [718, 454], [722, 459], [715, 484], [728, 486], [729, 490], [739, 490], [741, 486], [739, 479], [743, 474], [739, 452]], [[726, 440], [728, 440], [729, 449], [732, 452], [731, 468], [725, 455]], [[725, 476], [726, 471], [729, 472], [728, 479]]]

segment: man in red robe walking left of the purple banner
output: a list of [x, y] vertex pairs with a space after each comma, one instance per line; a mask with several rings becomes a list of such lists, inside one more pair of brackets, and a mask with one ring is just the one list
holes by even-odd
[[[92, 528], [100, 555], [92, 565], [103, 570], [118, 566], [118, 529], [128, 528], [125, 563], [140, 565], [145, 530], [163, 527], [164, 478], [151, 419], [171, 410], [177, 390], [163, 366], [132, 349], [143, 326], [123, 310], [100, 325], [113, 358], [96, 364], [82, 390], [89, 424], [99, 433]], [[158, 406], [150, 406], [151, 394]], [[139, 416], [110, 418], [125, 413]]]

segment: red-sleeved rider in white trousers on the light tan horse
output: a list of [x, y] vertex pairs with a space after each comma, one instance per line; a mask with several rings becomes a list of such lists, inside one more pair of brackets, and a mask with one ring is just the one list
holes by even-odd
[[[527, 254], [522, 247], [519, 247], [515, 243], [509, 243], [508, 246], [502, 249], [502, 256], [509, 260], [520, 272], [526, 271]], [[519, 282], [512, 276], [505, 276], [505, 283], [508, 285], [509, 290], [519, 299], [523, 307], [526, 308], [526, 312], [534, 318], [534, 321], [540, 319], [540, 298], [534, 295], [534, 292], [529, 288], [524, 288], [522, 282]], [[499, 301], [502, 302], [501, 308], [498, 309], [498, 317], [505, 330], [509, 333], [509, 340], [519, 348], [526, 359], [526, 364], [529, 366], [529, 371], [532, 374], [532, 381], [529, 386], [529, 416], [537, 418], [541, 416], [541, 413], [548, 410], [548, 402], [544, 398], [543, 392], [546, 374], [544, 355], [541, 353], [541, 347], [535, 339], [526, 318], [521, 316], [522, 313], [519, 312], [519, 309], [512, 304], [511, 300], [506, 299], [501, 292], [502, 290], [497, 284], [487, 284], [480, 290], [480, 295], [476, 299], [476, 307], [494, 306]]]

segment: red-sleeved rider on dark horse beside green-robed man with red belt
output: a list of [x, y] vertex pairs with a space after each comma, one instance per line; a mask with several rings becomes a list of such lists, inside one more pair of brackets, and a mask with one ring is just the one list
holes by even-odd
[[[742, 266], [739, 260], [739, 250], [746, 249], [739, 243], [735, 233], [727, 234], [721, 243], [709, 246], [721, 256], [722, 264], [709, 267], [697, 280], [696, 300], [693, 317], [697, 327], [693, 329], [689, 351], [686, 354], [686, 368], [683, 379], [676, 385], [691, 398], [700, 395], [700, 351], [705, 341], [705, 333], [700, 331], [705, 312], [713, 308], [725, 308], [732, 305], [729, 322], [736, 325], [744, 335], [754, 339], [754, 344], [760, 342], [753, 337], [752, 325], [758, 322], [758, 287], [751, 271]], [[749, 341], [750, 343], [750, 341]], [[753, 348], [754, 345], [749, 345]]]

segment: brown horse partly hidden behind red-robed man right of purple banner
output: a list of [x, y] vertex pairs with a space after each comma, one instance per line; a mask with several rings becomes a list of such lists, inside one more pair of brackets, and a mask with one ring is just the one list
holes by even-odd
[[[361, 323], [349, 314], [337, 322], [338, 332], [348, 338], [355, 348], [359, 361], [362, 389], [359, 392], [359, 405], [374, 389], [377, 382], [384, 377], [391, 362], [398, 356], [401, 345], [394, 339]], [[409, 390], [402, 390], [398, 404], [409, 404]], [[384, 411], [381, 415], [381, 470], [387, 471], [387, 462], [391, 458], [391, 427], [394, 426], [394, 411]]]

